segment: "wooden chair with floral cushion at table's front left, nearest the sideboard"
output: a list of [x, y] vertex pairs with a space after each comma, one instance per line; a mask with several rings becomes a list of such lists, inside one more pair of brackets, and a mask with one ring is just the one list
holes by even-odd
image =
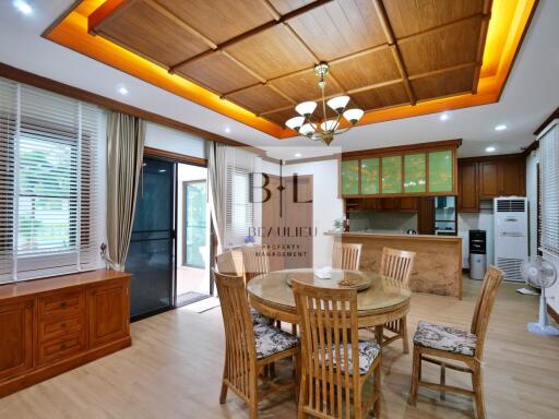
[[[215, 284], [222, 304], [225, 326], [225, 364], [219, 403], [227, 398], [230, 388], [249, 405], [249, 418], [258, 418], [258, 403], [280, 391], [296, 388], [293, 382], [277, 384], [262, 374], [265, 367], [285, 358], [297, 363], [299, 351], [297, 337], [278, 328], [252, 324], [249, 303], [241, 276], [223, 275], [214, 271]], [[264, 381], [265, 391], [259, 394], [259, 380]]]

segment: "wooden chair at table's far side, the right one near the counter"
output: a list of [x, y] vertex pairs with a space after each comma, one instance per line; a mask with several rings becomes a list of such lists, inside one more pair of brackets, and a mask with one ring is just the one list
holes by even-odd
[[[415, 252], [383, 248], [380, 260], [380, 274], [399, 282], [401, 285], [407, 286], [412, 270], [414, 268], [414, 260]], [[407, 318], [405, 315], [402, 319], [384, 324], [383, 328], [384, 331], [391, 332], [392, 336], [383, 336], [382, 346], [402, 339], [404, 354], [409, 354]]]

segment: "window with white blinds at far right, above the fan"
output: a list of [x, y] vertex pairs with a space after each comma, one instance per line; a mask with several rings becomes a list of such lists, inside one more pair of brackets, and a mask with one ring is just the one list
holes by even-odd
[[559, 124], [539, 139], [542, 173], [542, 250], [559, 258]]

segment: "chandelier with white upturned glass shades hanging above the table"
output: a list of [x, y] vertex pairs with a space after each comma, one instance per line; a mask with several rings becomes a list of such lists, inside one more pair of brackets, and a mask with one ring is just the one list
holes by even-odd
[[[364, 115], [364, 111], [358, 108], [346, 109], [349, 103], [349, 96], [335, 96], [326, 101], [324, 89], [326, 87], [326, 74], [329, 70], [330, 67], [325, 62], [314, 68], [314, 74], [319, 76], [319, 87], [322, 92], [322, 99], [320, 100], [322, 105], [322, 117], [314, 116], [314, 110], [318, 106], [316, 101], [304, 101], [295, 107], [295, 110], [300, 117], [294, 117], [285, 122], [292, 130], [311, 140], [322, 141], [326, 145], [332, 143], [334, 135], [343, 134], [350, 130]], [[328, 118], [326, 105], [336, 113], [334, 118]], [[342, 117], [349, 122], [349, 127], [340, 129]]]

